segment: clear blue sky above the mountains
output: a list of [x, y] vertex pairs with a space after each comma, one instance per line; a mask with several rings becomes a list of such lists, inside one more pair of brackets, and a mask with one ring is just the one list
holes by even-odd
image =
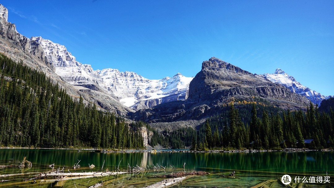
[[281, 68], [334, 95], [334, 1], [3, 0], [17, 31], [64, 45], [94, 70], [195, 76], [216, 57], [252, 73]]

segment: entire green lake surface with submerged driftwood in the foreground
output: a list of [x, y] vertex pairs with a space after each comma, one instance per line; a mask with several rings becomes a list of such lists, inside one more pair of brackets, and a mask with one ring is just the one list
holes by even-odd
[[[333, 152], [257, 152], [257, 153], [95, 153], [76, 150], [37, 150], [37, 149], [0, 149], [0, 165], [16, 165], [23, 157], [32, 163], [32, 168], [1, 168], [0, 187], [90, 187], [103, 182], [103, 187], [145, 187], [164, 178], [157, 175], [168, 175], [180, 171], [206, 171], [209, 175], [192, 176], [174, 187], [252, 187], [264, 183], [264, 187], [285, 187], [279, 179], [285, 174], [292, 177], [292, 187], [334, 187], [334, 178], [330, 183], [294, 183], [294, 178], [304, 176], [324, 177], [334, 174]], [[80, 160], [77, 172], [90, 172], [89, 165], [94, 164], [94, 171], [108, 169], [109, 171], [129, 170], [129, 165], [140, 167], [159, 166], [159, 171], [146, 170], [143, 173], [131, 173], [116, 176], [81, 178], [62, 182], [36, 180], [23, 181], [33, 178], [29, 172], [47, 172], [55, 164], [55, 168], [65, 172], [74, 172], [73, 164]], [[104, 163], [105, 162], [105, 163]], [[185, 169], [182, 166], [185, 164]], [[104, 163], [104, 164], [103, 164]], [[119, 167], [118, 167], [119, 166]], [[235, 171], [235, 177], [227, 176]], [[20, 174], [15, 177], [1, 177], [3, 174]], [[223, 177], [222, 175], [225, 175]], [[334, 177], [334, 176], [333, 176]], [[5, 180], [4, 182], [1, 182]], [[6, 181], [10, 180], [10, 181]], [[268, 182], [268, 183], [266, 183]], [[259, 185], [258, 185], [259, 186]]]

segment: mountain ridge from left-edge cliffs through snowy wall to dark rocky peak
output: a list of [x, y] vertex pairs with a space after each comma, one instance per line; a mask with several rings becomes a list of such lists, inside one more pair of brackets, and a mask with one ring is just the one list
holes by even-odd
[[82, 95], [86, 103], [96, 103], [120, 115], [130, 113], [137, 120], [201, 121], [219, 113], [231, 100], [261, 100], [283, 109], [305, 109], [308, 105], [305, 97], [281, 83], [214, 57], [202, 63], [202, 70], [194, 78], [178, 73], [172, 78], [149, 80], [134, 72], [93, 70], [91, 65], [77, 62], [63, 45], [21, 35], [7, 18], [8, 10], [0, 5], [0, 50], [4, 54], [41, 69], [73, 98]]

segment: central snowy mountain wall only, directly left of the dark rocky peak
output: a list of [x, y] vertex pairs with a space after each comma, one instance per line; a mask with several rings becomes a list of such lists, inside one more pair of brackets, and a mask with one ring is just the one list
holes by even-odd
[[185, 100], [192, 80], [180, 73], [161, 80], [149, 80], [134, 72], [120, 72], [117, 69], [103, 69], [98, 73], [104, 81], [104, 87], [118, 96], [125, 106], [135, 110]]

